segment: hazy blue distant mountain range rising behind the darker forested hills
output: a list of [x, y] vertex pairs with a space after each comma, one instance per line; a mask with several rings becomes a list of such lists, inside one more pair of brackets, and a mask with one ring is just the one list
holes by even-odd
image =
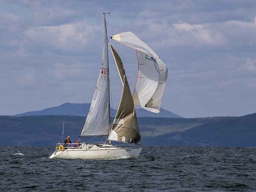
[[[26, 113], [16, 114], [15, 116], [34, 116], [34, 115], [70, 115], [70, 116], [86, 116], [89, 112], [89, 103], [64, 103], [62, 105], [46, 108], [41, 111], [29, 111]], [[110, 109], [111, 116], [115, 116], [116, 110]], [[167, 117], [167, 118], [183, 118], [175, 113], [167, 111], [163, 108], [159, 113], [152, 113], [143, 108], [136, 110], [137, 117]]]

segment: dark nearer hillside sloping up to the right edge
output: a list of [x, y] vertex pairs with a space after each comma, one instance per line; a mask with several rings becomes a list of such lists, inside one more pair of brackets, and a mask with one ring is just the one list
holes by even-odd
[[256, 147], [256, 113], [221, 118], [186, 131], [147, 138], [145, 145]]

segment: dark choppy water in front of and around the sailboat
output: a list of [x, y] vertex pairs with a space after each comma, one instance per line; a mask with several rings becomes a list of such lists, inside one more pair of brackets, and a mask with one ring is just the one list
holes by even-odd
[[256, 191], [256, 148], [145, 147], [137, 159], [49, 159], [0, 147], [2, 191]]

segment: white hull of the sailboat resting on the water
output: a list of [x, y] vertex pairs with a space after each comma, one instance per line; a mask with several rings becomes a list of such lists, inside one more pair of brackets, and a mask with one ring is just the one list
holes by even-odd
[[84, 145], [79, 148], [68, 148], [64, 151], [55, 151], [49, 158], [59, 159], [112, 159], [137, 158], [142, 148], [116, 147], [113, 145]]

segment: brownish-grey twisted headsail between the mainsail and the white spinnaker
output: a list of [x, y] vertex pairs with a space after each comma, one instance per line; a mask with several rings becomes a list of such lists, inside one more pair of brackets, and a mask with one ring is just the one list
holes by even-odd
[[108, 136], [108, 140], [137, 143], [140, 141], [140, 131], [134, 102], [131, 96], [130, 87], [125, 76], [122, 60], [116, 50], [110, 45], [119, 76], [122, 80], [123, 90], [116, 117]]

